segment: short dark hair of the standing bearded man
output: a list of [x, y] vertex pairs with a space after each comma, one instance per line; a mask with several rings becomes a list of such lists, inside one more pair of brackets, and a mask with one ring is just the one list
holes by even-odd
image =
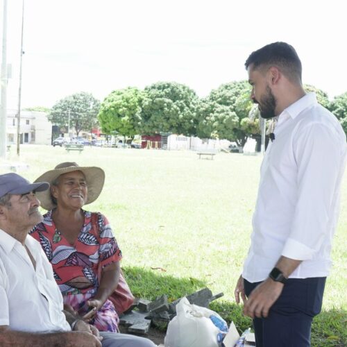
[[251, 53], [244, 63], [246, 69], [269, 69], [276, 66], [290, 81], [301, 83], [302, 66], [298, 53], [293, 46], [285, 42], [274, 42]]

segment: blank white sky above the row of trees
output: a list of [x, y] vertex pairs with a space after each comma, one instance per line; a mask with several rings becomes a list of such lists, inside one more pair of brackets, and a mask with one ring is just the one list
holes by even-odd
[[[276, 41], [298, 52], [303, 82], [333, 99], [347, 92], [344, 2], [24, 0], [22, 108], [82, 91], [103, 101], [112, 90], [158, 81], [207, 96], [247, 79], [249, 54]], [[21, 28], [22, 0], [8, 0], [8, 109], [18, 105]]]

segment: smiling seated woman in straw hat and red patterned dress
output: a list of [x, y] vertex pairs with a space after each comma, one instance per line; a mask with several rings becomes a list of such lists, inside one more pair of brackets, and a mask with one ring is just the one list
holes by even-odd
[[53, 266], [65, 305], [100, 331], [117, 332], [118, 315], [108, 297], [118, 284], [121, 251], [105, 216], [83, 210], [101, 193], [104, 171], [63, 162], [37, 180], [50, 183], [51, 189], [37, 192], [48, 212], [31, 236]]

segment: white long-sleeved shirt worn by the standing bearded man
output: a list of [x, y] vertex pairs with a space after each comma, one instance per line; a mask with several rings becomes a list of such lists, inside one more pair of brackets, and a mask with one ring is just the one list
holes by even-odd
[[303, 260], [291, 278], [328, 276], [346, 135], [314, 93], [281, 113], [274, 134], [260, 169], [242, 276], [249, 282], [265, 280], [281, 255]]

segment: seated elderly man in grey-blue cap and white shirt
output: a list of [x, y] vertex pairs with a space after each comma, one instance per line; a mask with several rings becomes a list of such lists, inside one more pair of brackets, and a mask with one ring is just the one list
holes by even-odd
[[35, 192], [48, 188], [17, 174], [0, 175], [0, 346], [154, 347], [142, 337], [99, 333], [63, 312], [51, 264], [28, 236], [42, 221]]

